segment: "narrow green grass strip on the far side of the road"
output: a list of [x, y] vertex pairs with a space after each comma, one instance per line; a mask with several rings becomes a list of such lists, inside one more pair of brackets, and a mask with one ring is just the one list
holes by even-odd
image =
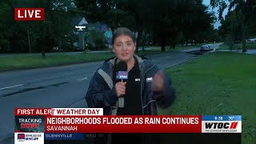
[[[145, 50], [139, 51], [139, 55], [161, 54], [161, 50]], [[0, 70], [18, 70], [33, 67], [44, 66], [61, 66], [82, 62], [97, 62], [113, 57], [114, 53], [105, 54], [46, 54], [46, 58], [42, 58], [41, 54], [17, 54], [14, 56], [0, 57]]]

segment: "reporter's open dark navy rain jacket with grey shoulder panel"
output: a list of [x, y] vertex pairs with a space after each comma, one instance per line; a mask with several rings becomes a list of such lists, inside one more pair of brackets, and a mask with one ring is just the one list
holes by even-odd
[[[166, 109], [174, 102], [175, 95], [171, 80], [165, 75], [165, 90], [162, 93], [153, 92], [151, 81], [159, 70], [158, 66], [154, 65], [150, 59], [140, 58], [137, 55], [134, 55], [134, 57], [137, 58], [141, 70], [142, 114], [156, 115], [157, 107]], [[110, 58], [103, 63], [102, 67], [98, 68], [90, 80], [90, 86], [86, 94], [88, 107], [102, 107], [104, 115], [115, 115], [118, 110], [118, 97], [112, 80], [114, 62], [115, 58]], [[110, 139], [108, 139], [108, 142], [110, 142]]]

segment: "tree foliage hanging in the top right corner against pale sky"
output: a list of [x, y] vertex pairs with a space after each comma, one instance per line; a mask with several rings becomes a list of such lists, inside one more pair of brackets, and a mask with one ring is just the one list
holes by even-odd
[[[230, 39], [230, 47], [234, 41], [242, 41], [242, 51], [246, 51], [246, 38], [254, 33], [256, 1], [255, 0], [211, 0], [211, 6], [218, 7], [218, 18], [222, 22], [222, 37]], [[222, 18], [223, 11], [229, 11], [226, 19]], [[236, 34], [238, 33], [238, 34]]]

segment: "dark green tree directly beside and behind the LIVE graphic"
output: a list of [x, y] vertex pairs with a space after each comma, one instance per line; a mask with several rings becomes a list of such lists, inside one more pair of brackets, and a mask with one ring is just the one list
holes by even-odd
[[72, 36], [70, 20], [75, 16], [76, 8], [73, 0], [38, 0], [36, 6], [45, 8], [45, 21], [38, 23], [38, 32], [41, 32], [41, 39], [38, 41], [41, 44], [42, 57], [45, 58], [46, 50], [51, 50], [67, 40], [67, 36]]

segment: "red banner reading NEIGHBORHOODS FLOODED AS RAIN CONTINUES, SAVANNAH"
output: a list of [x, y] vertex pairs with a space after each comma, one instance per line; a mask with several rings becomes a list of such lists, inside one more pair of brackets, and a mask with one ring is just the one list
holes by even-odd
[[46, 133], [201, 133], [200, 115], [50, 116]]

